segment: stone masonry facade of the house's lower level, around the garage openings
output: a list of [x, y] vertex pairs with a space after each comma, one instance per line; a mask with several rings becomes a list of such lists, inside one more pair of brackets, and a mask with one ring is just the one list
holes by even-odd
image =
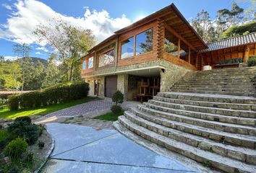
[[[103, 68], [99, 68], [97, 71], [94, 71], [93, 74], [88, 74], [88, 77], [85, 76], [85, 81], [89, 81], [90, 84], [90, 95], [94, 95], [94, 81], [100, 80], [99, 84], [99, 97], [105, 96], [105, 84], [104, 79], [105, 76], [111, 74], [117, 74], [117, 89], [120, 90], [124, 94], [124, 99], [128, 99], [128, 74], [123, 74], [123, 71], [136, 70], [141, 68], [150, 68], [153, 66], [159, 66], [164, 68], [164, 72], [161, 71], [161, 92], [166, 92], [171, 88], [174, 84], [176, 84], [179, 79], [181, 79], [187, 71], [187, 68], [176, 66], [172, 63], [169, 63], [166, 60], [158, 60], [158, 61], [148, 61], [145, 63], [137, 63], [129, 66], [121, 66], [116, 67], [116, 64], [112, 64], [111, 66], [106, 66]], [[161, 69], [159, 69], [161, 70]], [[120, 74], [118, 74], [120, 72]], [[103, 76], [94, 76], [94, 75], [103, 75]], [[90, 77], [93, 75], [92, 77]], [[137, 90], [136, 90], [137, 91]], [[132, 99], [131, 94], [129, 95], [129, 99]]]

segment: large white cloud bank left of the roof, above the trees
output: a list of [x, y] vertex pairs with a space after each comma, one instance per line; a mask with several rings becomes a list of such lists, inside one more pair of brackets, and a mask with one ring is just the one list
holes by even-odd
[[0, 25], [0, 38], [15, 43], [38, 43], [37, 37], [33, 35], [36, 26], [44, 22], [53, 23], [54, 19], [62, 19], [70, 25], [92, 30], [98, 42], [112, 35], [114, 31], [131, 24], [131, 20], [124, 14], [121, 17], [111, 18], [106, 10], [98, 12], [88, 7], [85, 7], [83, 17], [68, 17], [54, 12], [50, 6], [35, 0], [18, 0], [12, 9], [14, 12], [7, 19], [7, 23]]

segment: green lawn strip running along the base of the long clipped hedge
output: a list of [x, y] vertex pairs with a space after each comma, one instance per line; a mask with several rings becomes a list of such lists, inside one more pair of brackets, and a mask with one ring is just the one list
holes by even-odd
[[85, 102], [90, 102], [98, 98], [95, 97], [86, 97], [85, 99], [77, 99], [72, 102], [66, 102], [57, 105], [49, 105], [45, 107], [35, 107], [33, 109], [24, 109], [24, 110], [12, 110], [10, 111], [7, 105], [0, 106], [0, 118], [12, 118], [23, 117], [23, 116], [32, 116], [32, 115], [47, 115], [48, 113], [54, 112], [56, 110], [62, 110], [66, 107], [72, 107], [74, 105], [80, 105]]

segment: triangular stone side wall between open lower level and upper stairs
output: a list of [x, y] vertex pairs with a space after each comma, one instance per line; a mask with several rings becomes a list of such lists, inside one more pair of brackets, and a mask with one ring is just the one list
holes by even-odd
[[161, 60], [160, 63], [161, 66], [164, 66], [166, 69], [161, 71], [161, 86], [160, 86], [160, 92], [168, 92], [168, 90], [176, 84], [177, 81], [182, 79], [182, 77], [187, 74], [188, 70], [187, 68], [184, 68], [182, 66], [176, 66], [172, 63], [169, 63], [168, 61]]

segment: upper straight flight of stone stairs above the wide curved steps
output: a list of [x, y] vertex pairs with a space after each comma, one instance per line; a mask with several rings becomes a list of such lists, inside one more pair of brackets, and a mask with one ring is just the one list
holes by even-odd
[[189, 72], [170, 91], [256, 96], [255, 73], [255, 67]]

